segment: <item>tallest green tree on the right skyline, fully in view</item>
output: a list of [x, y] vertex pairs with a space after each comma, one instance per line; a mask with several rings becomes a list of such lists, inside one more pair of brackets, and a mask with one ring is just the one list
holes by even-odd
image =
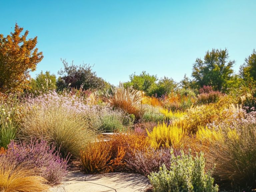
[[198, 88], [210, 85], [214, 90], [226, 91], [227, 82], [233, 74], [234, 60], [228, 60], [227, 49], [207, 51], [204, 60], [197, 58], [193, 64], [192, 77]]

